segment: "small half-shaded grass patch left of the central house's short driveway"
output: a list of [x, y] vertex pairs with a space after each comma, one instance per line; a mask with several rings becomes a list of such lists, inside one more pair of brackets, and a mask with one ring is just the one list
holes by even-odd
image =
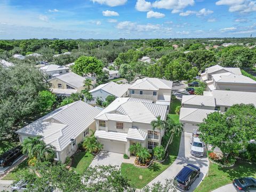
[[91, 164], [94, 156], [90, 153], [86, 153], [85, 151], [77, 152], [73, 158], [73, 162], [71, 167], [77, 173], [83, 173], [87, 167]]

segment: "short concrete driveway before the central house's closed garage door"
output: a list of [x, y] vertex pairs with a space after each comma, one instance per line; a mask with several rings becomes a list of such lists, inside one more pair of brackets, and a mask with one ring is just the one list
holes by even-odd
[[90, 164], [90, 166], [95, 165], [113, 165], [120, 167], [123, 162], [123, 154], [113, 153], [109, 151], [100, 151], [96, 155]]

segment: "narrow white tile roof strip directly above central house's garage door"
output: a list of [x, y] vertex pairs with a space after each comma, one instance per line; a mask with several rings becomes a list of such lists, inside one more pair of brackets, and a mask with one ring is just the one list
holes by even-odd
[[127, 142], [127, 133], [122, 132], [113, 132], [113, 131], [103, 131], [97, 130], [94, 133], [95, 137], [100, 139], [108, 139], [108, 140], [116, 140], [116, 141], [124, 141]]

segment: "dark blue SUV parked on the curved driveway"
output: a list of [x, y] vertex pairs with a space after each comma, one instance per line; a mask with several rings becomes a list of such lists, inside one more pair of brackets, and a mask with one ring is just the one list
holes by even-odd
[[176, 187], [183, 191], [189, 190], [190, 186], [196, 180], [196, 178], [199, 177], [200, 173], [200, 168], [198, 166], [187, 164], [174, 178]]

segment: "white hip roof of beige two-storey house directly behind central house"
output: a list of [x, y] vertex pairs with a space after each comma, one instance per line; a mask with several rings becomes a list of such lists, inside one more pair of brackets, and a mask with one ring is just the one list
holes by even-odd
[[153, 90], [158, 91], [159, 89], [172, 89], [172, 81], [159, 78], [145, 77], [135, 81], [129, 89], [134, 90]]

